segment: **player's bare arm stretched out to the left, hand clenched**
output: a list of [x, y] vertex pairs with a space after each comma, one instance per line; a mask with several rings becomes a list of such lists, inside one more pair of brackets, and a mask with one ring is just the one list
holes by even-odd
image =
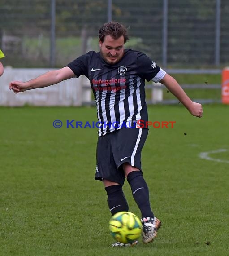
[[12, 81], [9, 83], [9, 89], [13, 90], [14, 93], [22, 93], [26, 90], [43, 88], [52, 84], [57, 84], [63, 80], [73, 77], [75, 77], [73, 71], [69, 67], [63, 67], [59, 70], [49, 71], [27, 82]]

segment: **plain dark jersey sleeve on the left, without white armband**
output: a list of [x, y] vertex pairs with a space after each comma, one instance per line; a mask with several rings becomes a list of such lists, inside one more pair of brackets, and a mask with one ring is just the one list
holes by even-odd
[[87, 75], [89, 58], [90, 56], [88, 56], [88, 53], [86, 53], [70, 62], [67, 66], [74, 72], [76, 77], [79, 77], [80, 75]]

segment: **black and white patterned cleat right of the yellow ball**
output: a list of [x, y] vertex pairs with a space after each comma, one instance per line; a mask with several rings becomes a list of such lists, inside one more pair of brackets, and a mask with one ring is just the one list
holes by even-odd
[[143, 224], [143, 243], [152, 242], [157, 236], [157, 231], [161, 226], [161, 222], [156, 218], [145, 217], [141, 219]]

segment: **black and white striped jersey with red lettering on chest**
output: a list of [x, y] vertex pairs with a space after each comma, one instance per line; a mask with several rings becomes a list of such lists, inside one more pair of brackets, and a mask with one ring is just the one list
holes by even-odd
[[91, 83], [97, 106], [99, 136], [121, 128], [136, 127], [147, 121], [145, 80], [155, 83], [165, 71], [144, 53], [125, 49], [121, 60], [113, 65], [100, 53], [90, 51], [67, 65], [76, 75], [85, 75]]

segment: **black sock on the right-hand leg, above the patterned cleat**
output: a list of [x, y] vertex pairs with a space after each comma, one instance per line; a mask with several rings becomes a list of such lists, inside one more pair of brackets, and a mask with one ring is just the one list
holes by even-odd
[[154, 217], [150, 207], [149, 189], [141, 171], [130, 172], [127, 176], [135, 202], [142, 217]]

